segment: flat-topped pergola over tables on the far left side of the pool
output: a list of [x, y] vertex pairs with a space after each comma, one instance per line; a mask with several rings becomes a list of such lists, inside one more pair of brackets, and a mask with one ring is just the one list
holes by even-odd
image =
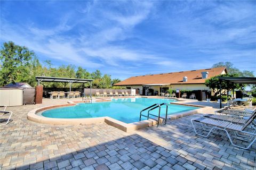
[[69, 92], [71, 91], [72, 83], [87, 83], [90, 82], [90, 96], [92, 96], [92, 79], [71, 79], [71, 78], [55, 78], [55, 77], [41, 77], [36, 76], [37, 84], [39, 85], [41, 82], [59, 82], [63, 83], [66, 87], [66, 84], [69, 83]]

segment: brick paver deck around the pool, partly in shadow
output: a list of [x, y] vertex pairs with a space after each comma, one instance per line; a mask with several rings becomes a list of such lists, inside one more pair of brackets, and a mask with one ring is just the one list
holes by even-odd
[[[226, 135], [196, 135], [191, 115], [159, 128], [125, 133], [105, 123], [47, 125], [30, 122], [34, 108], [9, 107], [12, 122], [0, 126], [2, 169], [256, 169], [256, 145], [238, 149]], [[209, 111], [212, 112], [212, 111]]]

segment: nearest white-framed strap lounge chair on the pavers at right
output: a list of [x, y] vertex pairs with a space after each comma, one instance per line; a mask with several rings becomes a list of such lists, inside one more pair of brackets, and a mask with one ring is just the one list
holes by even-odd
[[[222, 130], [227, 133], [231, 145], [242, 149], [248, 149], [256, 140], [254, 124], [255, 118], [256, 114], [250, 116], [245, 124], [237, 124], [230, 121], [214, 120], [207, 117], [196, 117], [191, 119], [191, 124], [193, 125], [193, 129], [197, 135], [201, 135], [202, 137], [209, 137], [211, 132], [218, 134], [218, 130]], [[199, 131], [202, 132], [202, 129], [197, 131], [195, 123], [201, 124], [201, 127], [203, 128], [203, 131], [206, 131], [206, 134], [198, 133]], [[232, 134], [234, 134], [233, 139], [231, 138]], [[234, 143], [234, 139], [247, 142], [248, 145], [245, 147], [242, 145], [238, 145], [238, 143], [244, 142]]]

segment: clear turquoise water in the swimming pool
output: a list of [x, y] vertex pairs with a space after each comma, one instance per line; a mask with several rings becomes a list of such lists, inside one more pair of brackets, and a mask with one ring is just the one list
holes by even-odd
[[[171, 103], [175, 102], [172, 99], [153, 99], [153, 98], [122, 98], [113, 99], [109, 102], [99, 102], [92, 104], [78, 104], [76, 106], [59, 107], [49, 109], [42, 113], [42, 116], [52, 118], [89, 118], [89, 117], [103, 117], [109, 116], [124, 123], [138, 122], [140, 118], [140, 111], [155, 103]], [[189, 107], [182, 105], [169, 105], [168, 114], [191, 111], [197, 107]], [[166, 107], [161, 108], [161, 115], [164, 116]], [[158, 109], [150, 113], [157, 114]], [[147, 112], [144, 112], [147, 114]], [[146, 120], [146, 117], [142, 117]]]

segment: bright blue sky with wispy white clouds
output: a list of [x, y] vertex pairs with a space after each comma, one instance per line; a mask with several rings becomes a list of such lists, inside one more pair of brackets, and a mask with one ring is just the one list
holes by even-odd
[[256, 73], [255, 1], [1, 1], [0, 35], [122, 80], [226, 61]]

